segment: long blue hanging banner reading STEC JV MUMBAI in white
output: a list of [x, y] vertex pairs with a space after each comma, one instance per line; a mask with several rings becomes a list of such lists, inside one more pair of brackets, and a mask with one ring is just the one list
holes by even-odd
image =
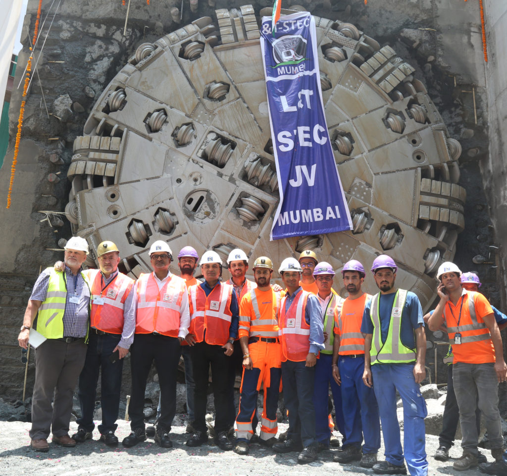
[[283, 15], [271, 31], [263, 17], [261, 48], [280, 203], [271, 240], [352, 228], [325, 122], [315, 20]]

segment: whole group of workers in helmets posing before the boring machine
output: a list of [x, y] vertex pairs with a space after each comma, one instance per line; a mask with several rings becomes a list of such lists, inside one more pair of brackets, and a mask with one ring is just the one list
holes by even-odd
[[[474, 283], [476, 275], [462, 274], [455, 264], [443, 263], [437, 273], [440, 301], [423, 318], [416, 294], [396, 288], [397, 265], [387, 255], [375, 258], [371, 267], [379, 289], [374, 296], [361, 289], [364, 265], [357, 260], [345, 263], [341, 275], [348, 295], [342, 298], [332, 287], [335, 270], [327, 262], [318, 262], [311, 250], [303, 251], [299, 260], [282, 260], [278, 272], [284, 289], [271, 283], [275, 267], [266, 256], [253, 263], [255, 282], [246, 279], [248, 258], [239, 249], [227, 259], [231, 275], [227, 281], [222, 279], [218, 253], [206, 251], [199, 257], [190, 246], [177, 256], [180, 276], [173, 275], [169, 270], [172, 251], [165, 241], [150, 247], [153, 272], [135, 282], [118, 271], [120, 252], [114, 243], [98, 245], [99, 269], [83, 270], [88, 254], [86, 240], [69, 239], [64, 261], [39, 276], [23, 318], [21, 347], [27, 347], [31, 333], [45, 338], [35, 357], [30, 429], [35, 451], [48, 451], [50, 432], [52, 441], [63, 447], [92, 438], [99, 372], [100, 440], [118, 445], [115, 430], [122, 367], [129, 351], [131, 433], [122, 444], [133, 447], [148, 435], [160, 447], [172, 447], [176, 375], [183, 354], [187, 446], [201, 446], [208, 440], [205, 416], [211, 374], [213, 434], [222, 450], [244, 455], [250, 444], [258, 443], [276, 453], [297, 452], [301, 464], [312, 462], [333, 441], [331, 387], [336, 425], [343, 436], [334, 461], [357, 461], [377, 474], [406, 474], [408, 467], [412, 476], [426, 476], [427, 411], [419, 390], [425, 378], [426, 321], [431, 330], [448, 332], [454, 358], [444, 414], [447, 428], [435, 458], [448, 459], [459, 412], [463, 455], [453, 466], [463, 470], [480, 463], [476, 416], [480, 410], [495, 458], [494, 463], [482, 462], [480, 469], [507, 474], [497, 392], [498, 382], [507, 378], [498, 328], [507, 325], [507, 318], [498, 313], [495, 320], [487, 299], [477, 289], [467, 288], [468, 279]], [[194, 277], [198, 265], [202, 282]], [[155, 427], [146, 428], [144, 393], [153, 363], [160, 402]], [[234, 401], [238, 366], [243, 369], [239, 410]], [[78, 376], [81, 417], [77, 432], [69, 436]], [[258, 435], [261, 387], [264, 404]], [[289, 426], [283, 437], [276, 438], [281, 389]], [[396, 392], [403, 403], [403, 447]], [[380, 424], [384, 461], [377, 461]], [[231, 427], [235, 438], [231, 438]]]

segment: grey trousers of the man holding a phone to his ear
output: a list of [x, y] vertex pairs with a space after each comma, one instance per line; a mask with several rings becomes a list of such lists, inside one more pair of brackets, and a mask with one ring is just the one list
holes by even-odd
[[483, 416], [491, 448], [501, 448], [503, 438], [498, 412], [498, 381], [493, 363], [453, 364], [452, 382], [459, 407], [461, 425], [461, 446], [463, 451], [478, 454], [476, 409], [479, 406]]

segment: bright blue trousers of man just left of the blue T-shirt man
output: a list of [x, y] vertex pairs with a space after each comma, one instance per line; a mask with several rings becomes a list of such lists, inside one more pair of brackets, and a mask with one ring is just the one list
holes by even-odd
[[377, 453], [380, 448], [379, 407], [372, 388], [363, 382], [365, 360], [340, 355], [338, 360], [342, 380], [342, 409], [345, 416], [344, 446], [360, 447], [363, 453]]

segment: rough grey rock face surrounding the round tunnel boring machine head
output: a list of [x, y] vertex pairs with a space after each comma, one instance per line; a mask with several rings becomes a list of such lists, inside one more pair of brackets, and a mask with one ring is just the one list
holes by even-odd
[[[217, 1], [214, 8], [239, 7], [244, 2]], [[495, 269], [488, 264], [495, 260], [494, 230], [488, 216], [488, 204], [482, 186], [478, 159], [488, 151], [486, 134], [484, 84], [475, 73], [476, 61], [473, 50], [481, 51], [480, 40], [473, 35], [468, 25], [479, 24], [476, 6], [470, 5], [462, 15], [469, 15], [466, 21], [453, 26], [449, 34], [448, 11], [442, 7], [444, 2], [429, 5], [400, 3], [397, 0], [362, 2], [336, 0], [334, 2], [302, 2], [312, 13], [325, 18], [339, 18], [355, 23], [368, 35], [381, 44], [391, 45], [397, 53], [417, 69], [419, 77], [427, 86], [429, 95], [439, 108], [444, 122], [453, 137], [459, 138], [463, 147], [460, 184], [467, 189], [465, 205], [465, 231], [458, 237], [456, 244], [456, 262], [463, 270], [477, 271], [484, 283], [481, 291], [498, 304], [499, 288]], [[37, 2], [30, 0], [24, 31], [33, 32]], [[126, 35], [123, 35], [126, 8], [121, 2], [103, 2], [102, 0], [83, 0], [82, 2], [64, 2], [56, 12], [55, 20], [47, 35], [44, 52], [38, 62], [39, 76], [35, 76], [25, 106], [20, 158], [15, 180], [15, 195], [10, 211], [3, 210], [3, 222], [11, 223], [9, 229], [1, 231], [4, 246], [0, 250], [0, 276], [2, 304], [0, 317], [6, 331], [2, 334], [2, 363], [4, 371], [0, 376], [2, 394], [20, 397], [24, 366], [19, 362], [19, 348], [16, 336], [29, 296], [31, 285], [39, 274], [40, 267], [52, 264], [60, 257], [53, 249], [60, 248], [57, 243], [61, 237], [68, 237], [70, 228], [65, 222], [62, 227], [51, 227], [48, 221], [40, 222], [46, 215], [40, 211], [63, 212], [68, 196], [69, 185], [65, 180], [48, 182], [49, 173], [60, 172], [66, 175], [71, 146], [77, 135], [83, 130], [95, 97], [114, 77], [119, 68], [126, 63], [135, 48], [143, 42], [155, 42], [162, 35], [176, 27], [190, 23], [196, 18], [209, 16], [213, 10], [207, 2], [199, 3], [198, 11], [188, 8], [183, 19], [175, 23], [171, 8], [180, 7], [179, 2], [152, 2], [147, 6], [142, 0], [132, 0]], [[253, 2], [256, 11], [268, 5], [268, 2]], [[434, 9], [443, 8], [442, 14]], [[45, 6], [45, 8], [47, 8]], [[445, 10], [445, 11], [444, 11]], [[43, 11], [43, 17], [54, 11]], [[461, 19], [461, 13], [460, 13]], [[46, 27], [41, 31], [42, 40], [47, 34]], [[458, 41], [456, 41], [458, 39]], [[28, 39], [24, 38], [25, 48], [19, 56], [15, 84], [22, 79], [22, 65], [28, 57]], [[461, 45], [463, 55], [470, 58], [468, 63], [456, 64], [450, 56], [455, 55], [450, 46], [452, 42]], [[42, 45], [42, 41], [40, 42]], [[35, 50], [38, 55], [37, 48]], [[480, 59], [480, 58], [479, 58]], [[472, 66], [470, 66], [470, 63]], [[40, 77], [40, 80], [39, 80]], [[456, 81], [456, 82], [455, 82]], [[476, 86], [477, 85], [477, 86]], [[474, 107], [472, 89], [475, 88]], [[43, 98], [44, 93], [44, 98]], [[65, 97], [62, 101], [59, 98]], [[7, 168], [13, 155], [17, 117], [21, 102], [19, 90], [13, 92], [10, 112], [10, 132], [12, 142], [6, 156]], [[68, 115], [66, 119], [58, 112]], [[76, 106], [79, 104], [79, 106]], [[42, 105], [42, 106], [41, 106]], [[46, 113], [46, 106], [48, 113]], [[477, 113], [477, 122], [475, 114]], [[57, 117], [55, 117], [57, 116]], [[478, 153], [478, 151], [480, 153]], [[55, 154], [63, 164], [49, 161]], [[8, 176], [6, 167], [2, 169], [0, 191], [6, 196]], [[23, 188], [23, 187], [26, 188]], [[5, 192], [5, 193], [4, 193]], [[482, 258], [473, 258], [481, 256]], [[428, 333], [429, 340], [434, 339]], [[445, 382], [445, 367], [440, 364], [445, 346], [438, 347], [438, 383]], [[428, 351], [427, 365], [434, 378], [433, 352]], [[33, 354], [28, 367], [28, 389], [33, 381]], [[125, 388], [128, 389], [128, 362], [125, 365]], [[30, 392], [28, 392], [29, 394]]]

